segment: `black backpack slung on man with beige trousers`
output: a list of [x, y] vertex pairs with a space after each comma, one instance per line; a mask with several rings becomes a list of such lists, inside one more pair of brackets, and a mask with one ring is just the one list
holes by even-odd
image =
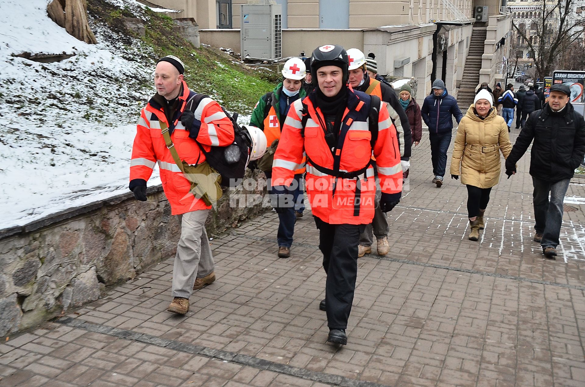
[[[199, 106], [199, 103], [204, 98], [208, 98], [208, 95], [194, 94], [187, 100], [187, 106], [185, 106], [185, 109], [195, 112], [197, 106]], [[195, 140], [195, 142], [199, 145], [203, 154], [205, 154], [205, 158], [209, 165], [221, 175], [221, 185], [233, 188], [238, 186], [244, 178], [250, 149], [252, 148], [252, 139], [250, 138], [246, 127], [241, 127], [238, 124], [238, 113], [230, 115], [223, 106], [222, 110], [232, 122], [234, 135], [233, 143], [225, 147], [212, 146], [211, 150], [208, 152], [197, 140]]]

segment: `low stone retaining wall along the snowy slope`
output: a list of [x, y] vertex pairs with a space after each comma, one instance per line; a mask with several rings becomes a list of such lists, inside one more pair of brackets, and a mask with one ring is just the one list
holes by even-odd
[[[248, 177], [264, 184], [226, 192], [207, 219], [210, 235], [267, 210], [257, 201], [233, 208], [236, 195], [266, 192], [264, 174]], [[179, 223], [160, 186], [147, 192], [147, 202], [128, 193], [0, 230], [0, 336], [97, 300], [106, 286], [174, 255]]]

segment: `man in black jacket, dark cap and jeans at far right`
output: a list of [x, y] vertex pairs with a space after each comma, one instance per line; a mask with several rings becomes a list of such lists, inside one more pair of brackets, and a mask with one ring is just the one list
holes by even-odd
[[510, 178], [516, 173], [517, 161], [534, 139], [530, 158], [536, 221], [534, 241], [540, 242], [542, 253], [553, 259], [563, 222], [563, 199], [575, 168], [585, 155], [585, 121], [573, 109], [570, 95], [567, 85], [553, 85], [548, 103], [531, 113], [506, 159], [506, 174]]

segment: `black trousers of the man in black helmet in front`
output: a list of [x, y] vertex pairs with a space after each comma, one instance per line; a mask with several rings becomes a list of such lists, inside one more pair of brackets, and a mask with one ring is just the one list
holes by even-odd
[[319, 250], [327, 274], [325, 303], [329, 329], [346, 329], [357, 278], [357, 244], [365, 224], [329, 224], [315, 216]]

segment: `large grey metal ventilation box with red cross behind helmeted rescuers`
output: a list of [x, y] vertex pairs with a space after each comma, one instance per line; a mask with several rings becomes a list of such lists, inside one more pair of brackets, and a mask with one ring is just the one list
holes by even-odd
[[283, 56], [282, 13], [278, 4], [242, 5], [240, 49], [242, 59], [280, 59]]

